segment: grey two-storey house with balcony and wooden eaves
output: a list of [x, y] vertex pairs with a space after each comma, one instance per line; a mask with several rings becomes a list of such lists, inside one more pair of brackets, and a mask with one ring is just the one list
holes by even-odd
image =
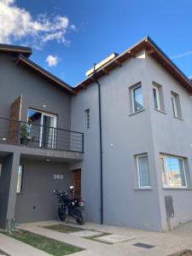
[[192, 84], [152, 39], [75, 88], [31, 54], [0, 45], [0, 225], [56, 218], [52, 190], [71, 183], [92, 222], [161, 231], [191, 220]]

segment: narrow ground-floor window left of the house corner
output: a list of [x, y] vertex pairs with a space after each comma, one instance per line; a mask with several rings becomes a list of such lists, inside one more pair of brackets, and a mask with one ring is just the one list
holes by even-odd
[[149, 188], [148, 154], [137, 155], [137, 172], [139, 188]]

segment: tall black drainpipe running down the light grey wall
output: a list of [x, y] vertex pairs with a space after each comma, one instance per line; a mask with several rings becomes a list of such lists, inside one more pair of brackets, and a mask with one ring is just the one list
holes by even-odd
[[101, 84], [96, 79], [96, 64], [94, 64], [92, 78], [98, 86], [98, 104], [99, 104], [99, 142], [100, 142], [100, 195], [101, 195], [101, 220], [103, 224], [103, 182], [102, 182], [102, 102], [101, 102]]

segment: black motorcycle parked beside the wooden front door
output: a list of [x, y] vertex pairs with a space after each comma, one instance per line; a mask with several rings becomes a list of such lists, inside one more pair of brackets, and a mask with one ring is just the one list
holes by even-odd
[[72, 198], [73, 186], [68, 191], [54, 190], [55, 197], [58, 199], [58, 216], [61, 221], [65, 221], [67, 216], [75, 218], [77, 224], [84, 224], [84, 199]]

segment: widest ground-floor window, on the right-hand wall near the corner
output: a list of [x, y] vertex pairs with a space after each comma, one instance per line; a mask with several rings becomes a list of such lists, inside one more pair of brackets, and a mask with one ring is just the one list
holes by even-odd
[[183, 158], [160, 155], [160, 169], [164, 187], [187, 187]]

